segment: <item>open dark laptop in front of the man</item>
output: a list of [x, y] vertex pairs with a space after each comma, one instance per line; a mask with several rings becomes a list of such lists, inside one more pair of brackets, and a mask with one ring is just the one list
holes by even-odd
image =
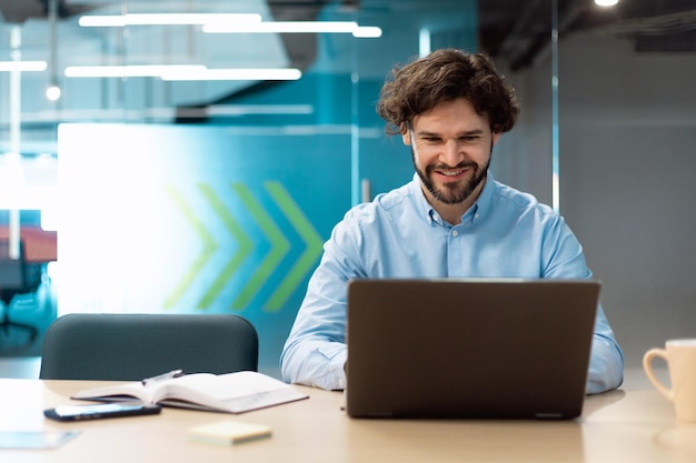
[[599, 290], [587, 280], [351, 281], [347, 413], [577, 417]]

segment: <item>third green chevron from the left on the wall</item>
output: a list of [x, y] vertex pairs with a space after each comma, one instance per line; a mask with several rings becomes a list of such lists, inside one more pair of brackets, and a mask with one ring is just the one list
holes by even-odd
[[282, 258], [288, 253], [290, 244], [280, 233], [271, 218], [264, 210], [261, 204], [253, 199], [251, 192], [242, 184], [232, 184], [232, 190], [245, 203], [253, 219], [258, 222], [261, 231], [271, 244], [271, 249], [259, 263], [256, 272], [249, 279], [248, 284], [242, 289], [237, 299], [232, 302], [233, 309], [243, 309], [249, 301], [258, 293], [268, 276], [276, 270]]

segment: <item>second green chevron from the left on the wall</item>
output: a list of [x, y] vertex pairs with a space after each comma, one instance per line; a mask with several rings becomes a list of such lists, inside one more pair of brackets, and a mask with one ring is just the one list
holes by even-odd
[[235, 236], [235, 240], [237, 240], [238, 243], [235, 255], [232, 255], [232, 258], [227, 262], [212, 285], [198, 302], [198, 309], [207, 309], [225, 289], [227, 282], [232, 278], [235, 272], [239, 270], [243, 261], [249, 256], [249, 254], [251, 254], [253, 243], [237, 223], [232, 214], [229, 213], [220, 198], [216, 194], [215, 190], [207, 184], [199, 185], [199, 189], [212, 207], [212, 210], [220, 217], [220, 219], [222, 219], [222, 223], [225, 223], [225, 227], [231, 235]]

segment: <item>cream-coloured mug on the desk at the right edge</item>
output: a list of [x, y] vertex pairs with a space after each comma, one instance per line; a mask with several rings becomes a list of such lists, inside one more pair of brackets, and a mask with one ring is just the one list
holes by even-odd
[[[677, 419], [696, 422], [696, 339], [669, 340], [666, 349], [653, 348], [643, 356], [643, 368], [655, 387], [674, 403]], [[672, 389], [653, 371], [656, 358], [667, 362]]]

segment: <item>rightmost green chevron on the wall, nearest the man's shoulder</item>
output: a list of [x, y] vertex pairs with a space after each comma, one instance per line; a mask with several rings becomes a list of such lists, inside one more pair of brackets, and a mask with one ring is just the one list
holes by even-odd
[[324, 248], [324, 240], [317, 233], [309, 220], [302, 214], [297, 203], [292, 201], [292, 198], [282, 188], [279, 182], [266, 182], [266, 190], [274, 198], [280, 210], [285, 213], [286, 218], [290, 221], [297, 233], [301, 236], [306, 244], [302, 255], [295, 261], [295, 264], [287, 273], [280, 285], [274, 291], [269, 300], [267, 301], [266, 309], [272, 312], [277, 312], [282, 309], [282, 305], [288, 300], [290, 294], [295, 291], [302, 278], [310, 271], [315, 264], [317, 258], [321, 254]]

